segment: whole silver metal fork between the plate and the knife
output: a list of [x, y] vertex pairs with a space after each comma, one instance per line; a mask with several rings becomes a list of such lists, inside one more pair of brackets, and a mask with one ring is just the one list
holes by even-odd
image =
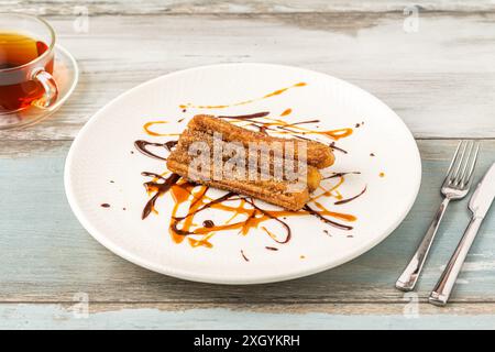
[[395, 283], [395, 287], [398, 289], [409, 292], [415, 288], [421, 273], [422, 265], [425, 264], [428, 252], [431, 248], [431, 243], [433, 243], [435, 234], [437, 233], [440, 222], [442, 221], [449, 202], [451, 200], [464, 198], [470, 191], [479, 151], [479, 142], [461, 141], [459, 143], [441, 187], [441, 193], [444, 197], [443, 201], [437, 210], [433, 221], [431, 221], [431, 224], [416, 250], [415, 255]]

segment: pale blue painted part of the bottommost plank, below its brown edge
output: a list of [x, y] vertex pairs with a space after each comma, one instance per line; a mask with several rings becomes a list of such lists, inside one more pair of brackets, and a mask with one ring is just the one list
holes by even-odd
[[[495, 315], [270, 314], [222, 308], [92, 312], [58, 305], [0, 305], [0, 329], [493, 329]], [[246, 331], [249, 333], [249, 331]]]

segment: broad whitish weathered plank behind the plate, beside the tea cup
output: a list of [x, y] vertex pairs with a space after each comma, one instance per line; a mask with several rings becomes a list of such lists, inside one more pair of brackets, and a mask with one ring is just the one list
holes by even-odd
[[160, 75], [207, 64], [267, 62], [321, 70], [383, 99], [417, 138], [495, 136], [495, 13], [48, 18], [77, 57], [74, 97], [47, 121], [9, 140], [70, 140], [100, 107]]

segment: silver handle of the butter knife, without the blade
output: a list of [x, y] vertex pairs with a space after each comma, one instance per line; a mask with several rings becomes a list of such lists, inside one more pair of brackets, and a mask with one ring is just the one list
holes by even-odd
[[440, 276], [440, 279], [435, 286], [433, 290], [430, 294], [429, 302], [436, 306], [444, 306], [449, 300], [450, 294], [452, 293], [452, 288], [455, 284], [455, 279], [458, 278], [459, 273], [461, 272], [462, 264], [464, 263], [465, 256], [470, 251], [471, 244], [473, 244], [474, 239], [476, 238], [477, 230], [483, 221], [483, 218], [473, 217], [471, 218], [471, 222], [464, 231], [461, 241], [455, 249], [455, 252], [452, 254], [449, 263], [446, 266], [446, 270]]

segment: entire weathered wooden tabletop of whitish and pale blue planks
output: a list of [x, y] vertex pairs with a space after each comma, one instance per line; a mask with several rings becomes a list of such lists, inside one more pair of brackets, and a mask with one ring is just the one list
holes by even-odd
[[[408, 3], [0, 0], [0, 11], [44, 15], [81, 69], [56, 114], [0, 132], [0, 328], [495, 328], [493, 210], [450, 305], [433, 307], [427, 297], [468, 224], [466, 201], [448, 212], [417, 293], [394, 288], [440, 201], [457, 141], [483, 140], [476, 180], [495, 162], [495, 3], [416, 1], [417, 19]], [[84, 230], [68, 207], [63, 170], [90, 116], [151, 78], [231, 62], [328, 73], [404, 119], [421, 153], [422, 185], [387, 240], [309, 277], [221, 286], [135, 266]]]

